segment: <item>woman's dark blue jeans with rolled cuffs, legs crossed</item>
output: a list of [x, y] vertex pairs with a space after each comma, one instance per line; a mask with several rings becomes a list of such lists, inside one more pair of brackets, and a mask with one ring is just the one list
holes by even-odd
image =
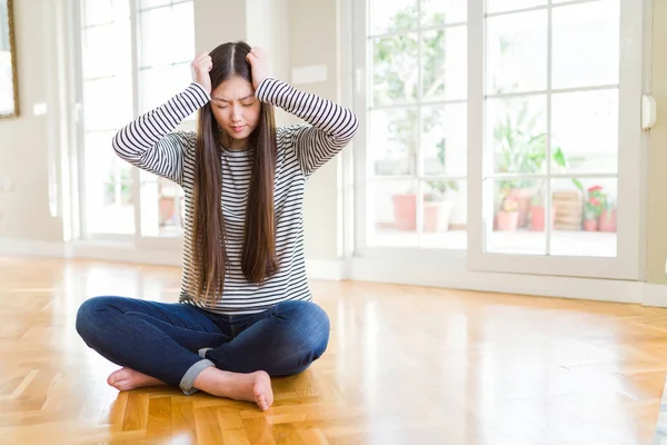
[[209, 366], [272, 377], [301, 373], [327, 349], [329, 318], [310, 301], [218, 315], [185, 303], [104, 296], [83, 301], [77, 332], [110, 362], [192, 394]]

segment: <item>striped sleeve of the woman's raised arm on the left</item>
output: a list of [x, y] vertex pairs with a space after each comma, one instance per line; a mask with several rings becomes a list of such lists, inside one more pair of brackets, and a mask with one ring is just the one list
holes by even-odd
[[203, 87], [190, 83], [166, 103], [121, 128], [113, 136], [113, 150], [131, 165], [182, 185], [185, 152], [193, 146], [196, 135], [172, 131], [209, 100]]

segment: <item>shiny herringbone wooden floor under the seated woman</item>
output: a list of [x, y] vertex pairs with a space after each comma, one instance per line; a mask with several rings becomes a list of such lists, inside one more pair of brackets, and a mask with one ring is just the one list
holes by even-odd
[[256, 406], [118, 393], [74, 330], [94, 295], [175, 301], [178, 268], [0, 258], [0, 442], [647, 444], [667, 372], [667, 310], [313, 283], [325, 356]]

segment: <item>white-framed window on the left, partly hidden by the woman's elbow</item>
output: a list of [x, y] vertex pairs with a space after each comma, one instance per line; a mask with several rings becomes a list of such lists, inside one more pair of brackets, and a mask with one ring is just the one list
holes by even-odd
[[182, 189], [119, 159], [111, 138], [190, 82], [192, 0], [83, 0], [81, 7], [84, 234], [180, 236]]

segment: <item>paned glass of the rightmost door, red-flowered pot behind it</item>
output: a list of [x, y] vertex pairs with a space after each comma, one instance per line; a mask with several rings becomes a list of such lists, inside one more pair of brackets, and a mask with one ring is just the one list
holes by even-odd
[[485, 248], [616, 257], [620, 3], [541, 4], [488, 2]]

